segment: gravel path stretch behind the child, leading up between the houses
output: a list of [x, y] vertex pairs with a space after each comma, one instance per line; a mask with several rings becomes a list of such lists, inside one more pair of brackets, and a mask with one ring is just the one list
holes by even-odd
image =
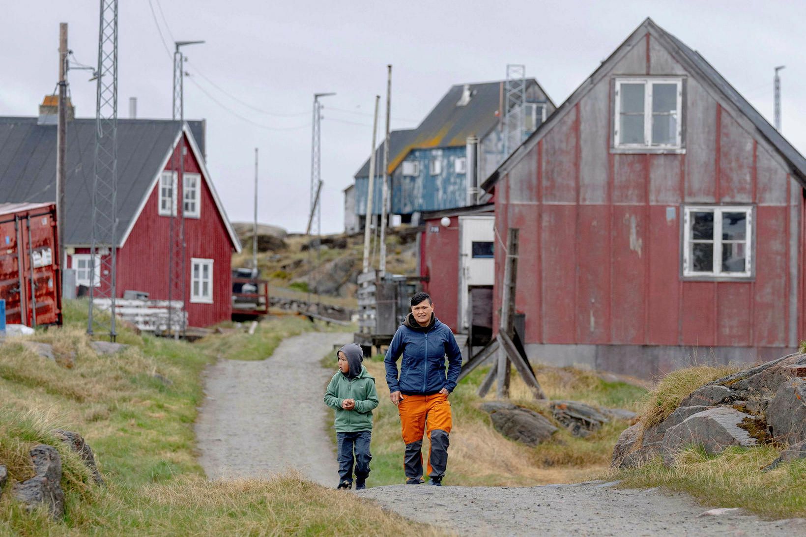
[[206, 371], [196, 437], [207, 477], [268, 477], [293, 468], [312, 481], [338, 481], [322, 394], [335, 372], [322, 356], [351, 335], [307, 332], [261, 361], [219, 360]]

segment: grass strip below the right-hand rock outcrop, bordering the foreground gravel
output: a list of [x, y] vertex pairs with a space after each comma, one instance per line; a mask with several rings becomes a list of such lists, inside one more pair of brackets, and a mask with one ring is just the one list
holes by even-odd
[[757, 448], [727, 448], [720, 455], [688, 448], [679, 453], [671, 468], [660, 458], [638, 468], [614, 472], [622, 487], [663, 487], [691, 494], [714, 507], [742, 507], [763, 517], [806, 517], [806, 460], [783, 463], [770, 472], [761, 468], [779, 454], [765, 445]]

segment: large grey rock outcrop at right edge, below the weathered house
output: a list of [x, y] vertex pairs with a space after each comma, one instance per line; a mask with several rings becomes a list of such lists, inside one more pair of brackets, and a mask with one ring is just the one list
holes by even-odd
[[700, 386], [660, 423], [624, 431], [611, 464], [629, 468], [658, 455], [673, 464], [675, 454], [690, 445], [719, 453], [767, 439], [790, 444], [781, 460], [800, 457], [806, 451], [804, 366], [806, 354], [793, 354]]

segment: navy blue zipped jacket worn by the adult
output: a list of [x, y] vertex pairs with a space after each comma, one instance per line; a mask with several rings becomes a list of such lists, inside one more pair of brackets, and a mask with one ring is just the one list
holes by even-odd
[[[401, 355], [403, 361], [398, 378], [397, 359]], [[432, 317], [427, 327], [421, 327], [409, 314], [389, 344], [384, 366], [389, 392], [431, 395], [442, 388], [452, 392], [462, 370], [462, 353], [447, 324], [442, 324], [438, 318]]]

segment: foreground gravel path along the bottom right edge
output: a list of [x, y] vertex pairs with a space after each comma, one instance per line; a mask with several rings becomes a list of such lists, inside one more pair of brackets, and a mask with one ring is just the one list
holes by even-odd
[[542, 487], [391, 485], [358, 491], [389, 510], [459, 535], [806, 535], [806, 519], [704, 514], [682, 494], [614, 483]]

